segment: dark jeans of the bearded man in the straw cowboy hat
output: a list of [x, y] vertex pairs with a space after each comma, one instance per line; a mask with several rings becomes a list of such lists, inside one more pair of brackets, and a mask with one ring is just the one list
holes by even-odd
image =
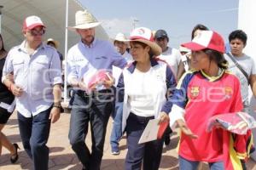
[[[113, 111], [114, 100], [111, 94], [88, 96], [82, 91], [74, 95], [71, 111], [69, 140], [84, 169], [98, 170], [101, 167], [103, 146], [108, 119]], [[90, 122], [91, 153], [84, 140]]]

